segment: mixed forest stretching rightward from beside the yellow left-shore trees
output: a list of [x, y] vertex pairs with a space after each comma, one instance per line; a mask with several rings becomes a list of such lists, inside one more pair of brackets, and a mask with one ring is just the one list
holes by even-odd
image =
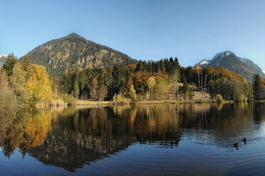
[[62, 92], [76, 99], [142, 101], [192, 99], [192, 92], [227, 101], [253, 100], [245, 77], [224, 67], [180, 67], [177, 58], [139, 61], [137, 65], [86, 69], [64, 75]]

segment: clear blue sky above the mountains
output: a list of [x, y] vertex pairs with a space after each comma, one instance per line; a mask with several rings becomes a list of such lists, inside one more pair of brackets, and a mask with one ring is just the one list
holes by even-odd
[[78, 33], [137, 60], [194, 65], [231, 50], [265, 70], [265, 1], [1, 0], [0, 54]]

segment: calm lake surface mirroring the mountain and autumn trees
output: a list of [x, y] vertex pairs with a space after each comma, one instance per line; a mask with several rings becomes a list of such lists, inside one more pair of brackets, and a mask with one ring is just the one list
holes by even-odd
[[264, 175], [265, 104], [1, 109], [0, 150], [0, 175]]

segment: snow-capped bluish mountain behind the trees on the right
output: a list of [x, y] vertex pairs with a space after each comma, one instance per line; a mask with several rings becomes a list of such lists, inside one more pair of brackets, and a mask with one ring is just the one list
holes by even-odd
[[265, 77], [264, 72], [261, 68], [256, 65], [253, 61], [237, 57], [231, 51], [225, 51], [223, 53], [217, 53], [212, 60], [202, 60], [199, 62], [199, 66], [211, 65], [212, 67], [222, 66], [227, 70], [233, 70], [238, 72], [240, 75], [246, 77], [251, 82], [254, 74], [258, 73], [261, 77]]

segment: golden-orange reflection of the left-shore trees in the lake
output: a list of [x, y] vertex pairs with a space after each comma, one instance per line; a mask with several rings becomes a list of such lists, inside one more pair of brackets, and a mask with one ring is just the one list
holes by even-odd
[[[1, 114], [1, 140], [0, 146], [3, 153], [10, 156], [19, 147], [23, 155], [32, 146], [41, 145], [45, 140], [48, 131], [51, 131], [51, 122], [56, 119], [55, 111], [52, 109], [5, 109], [5, 115]], [[57, 111], [56, 111], [57, 113]], [[9, 116], [14, 114], [14, 116]]]

